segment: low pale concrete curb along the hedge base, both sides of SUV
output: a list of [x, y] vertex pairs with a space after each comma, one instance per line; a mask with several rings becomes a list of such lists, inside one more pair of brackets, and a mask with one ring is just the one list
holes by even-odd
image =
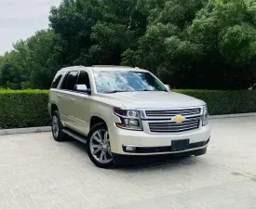
[[[210, 120], [222, 119], [222, 118], [238, 118], [238, 117], [251, 117], [256, 116], [256, 112], [241, 113], [241, 114], [222, 114], [222, 115], [211, 115]], [[30, 128], [14, 128], [14, 129], [0, 129], [0, 136], [4, 135], [18, 135], [18, 134], [32, 134], [41, 132], [50, 132], [50, 126], [43, 127], [30, 127]]]

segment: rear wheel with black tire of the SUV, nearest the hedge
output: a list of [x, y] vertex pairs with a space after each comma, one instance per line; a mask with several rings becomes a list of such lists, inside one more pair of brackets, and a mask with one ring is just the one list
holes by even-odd
[[[58, 131], [56, 131], [57, 124], [58, 124]], [[61, 124], [59, 111], [54, 111], [51, 117], [51, 133], [52, 133], [52, 137], [56, 141], [65, 141], [67, 139], [67, 135], [63, 133], [62, 130], [63, 130], [63, 126]]]

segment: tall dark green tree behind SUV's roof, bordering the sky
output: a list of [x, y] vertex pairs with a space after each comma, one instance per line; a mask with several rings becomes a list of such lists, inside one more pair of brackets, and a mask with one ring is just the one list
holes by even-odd
[[64, 65], [119, 64], [121, 54], [143, 33], [136, 0], [66, 0], [50, 12], [60, 35]]

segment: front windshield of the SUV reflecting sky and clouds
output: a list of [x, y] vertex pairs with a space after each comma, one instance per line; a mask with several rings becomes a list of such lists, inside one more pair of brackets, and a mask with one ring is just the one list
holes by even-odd
[[149, 72], [102, 71], [94, 72], [98, 93], [166, 91]]

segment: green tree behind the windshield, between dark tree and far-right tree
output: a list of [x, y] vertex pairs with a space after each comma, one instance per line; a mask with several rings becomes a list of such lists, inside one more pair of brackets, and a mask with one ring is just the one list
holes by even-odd
[[194, 0], [141, 0], [138, 4], [141, 12], [148, 15], [149, 24], [138, 48], [123, 53], [123, 64], [156, 72], [172, 86], [188, 85], [185, 77], [191, 78], [189, 75], [195, 73], [194, 62], [200, 58], [201, 51], [200, 46], [187, 40], [186, 30], [204, 3]]

